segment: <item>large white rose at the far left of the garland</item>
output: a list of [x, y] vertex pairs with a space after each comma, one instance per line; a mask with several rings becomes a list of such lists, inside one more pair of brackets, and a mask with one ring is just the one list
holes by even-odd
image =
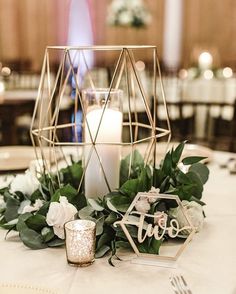
[[38, 189], [40, 183], [37, 177], [32, 174], [29, 170], [23, 175], [17, 175], [10, 185], [10, 192], [14, 193], [20, 191], [23, 194], [31, 196], [35, 190]]

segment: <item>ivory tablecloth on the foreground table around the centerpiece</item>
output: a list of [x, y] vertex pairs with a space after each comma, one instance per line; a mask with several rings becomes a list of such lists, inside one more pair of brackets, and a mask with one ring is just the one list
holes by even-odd
[[[236, 175], [221, 169], [229, 154], [214, 153], [210, 179], [204, 190], [206, 219], [178, 260], [193, 294], [236, 294]], [[174, 293], [170, 268], [131, 264], [111, 267], [107, 258], [87, 268], [67, 265], [65, 249], [30, 250], [0, 230], [0, 284], [21, 283], [75, 293]]]

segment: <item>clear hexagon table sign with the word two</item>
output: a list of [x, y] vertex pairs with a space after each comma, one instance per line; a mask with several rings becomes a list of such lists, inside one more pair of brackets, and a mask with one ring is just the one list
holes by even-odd
[[[176, 208], [181, 220], [172, 216]], [[179, 197], [152, 190], [138, 193], [114, 225], [121, 226], [137, 256], [132, 262], [164, 267], [176, 267], [178, 257], [195, 234]]]

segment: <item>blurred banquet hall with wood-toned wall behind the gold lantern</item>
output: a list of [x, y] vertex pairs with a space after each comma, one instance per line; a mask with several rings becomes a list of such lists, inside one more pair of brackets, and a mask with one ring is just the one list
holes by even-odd
[[[173, 138], [234, 151], [234, 4], [234, 0], [0, 0], [0, 144], [30, 144], [28, 131], [46, 46], [146, 44], [158, 48]], [[56, 69], [59, 56], [51, 58]], [[109, 80], [115, 58], [113, 52], [106, 58], [88, 56], [96, 79]], [[150, 55], [142, 53], [137, 61], [148, 70]], [[63, 106], [65, 116], [70, 116], [70, 105]], [[161, 112], [160, 106], [160, 121]]]

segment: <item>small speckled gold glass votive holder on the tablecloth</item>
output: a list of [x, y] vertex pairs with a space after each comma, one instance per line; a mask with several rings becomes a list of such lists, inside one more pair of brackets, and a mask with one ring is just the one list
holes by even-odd
[[96, 223], [73, 220], [65, 224], [66, 255], [68, 264], [88, 266], [94, 262]]

